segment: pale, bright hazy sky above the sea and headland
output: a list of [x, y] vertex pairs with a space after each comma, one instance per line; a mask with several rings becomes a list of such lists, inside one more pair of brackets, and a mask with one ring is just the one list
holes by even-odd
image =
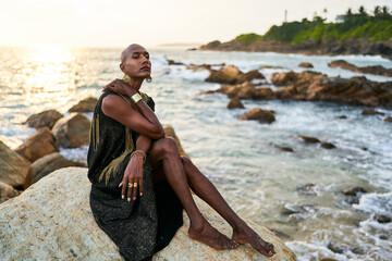
[[229, 41], [281, 25], [285, 10], [287, 22], [311, 20], [315, 12], [334, 21], [359, 5], [392, 10], [392, 0], [0, 0], [0, 46]]

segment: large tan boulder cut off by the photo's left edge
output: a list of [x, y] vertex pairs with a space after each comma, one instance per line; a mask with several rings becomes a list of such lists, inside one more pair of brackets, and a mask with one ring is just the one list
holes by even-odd
[[0, 140], [0, 182], [21, 187], [30, 171], [30, 162]]

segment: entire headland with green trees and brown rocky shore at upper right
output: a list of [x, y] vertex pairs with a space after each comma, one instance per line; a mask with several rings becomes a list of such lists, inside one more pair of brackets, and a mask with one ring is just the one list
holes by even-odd
[[232, 41], [212, 41], [200, 49], [308, 54], [360, 53], [392, 58], [392, 11], [387, 5], [375, 7], [371, 14], [364, 7], [359, 7], [357, 12], [348, 9], [345, 14], [336, 16], [335, 23], [327, 23], [326, 18], [315, 13], [311, 21], [303, 18], [301, 22], [273, 25], [265, 35], [243, 34]]

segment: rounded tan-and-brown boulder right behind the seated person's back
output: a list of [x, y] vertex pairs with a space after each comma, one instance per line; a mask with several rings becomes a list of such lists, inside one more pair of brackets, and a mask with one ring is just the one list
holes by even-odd
[[81, 113], [71, 113], [60, 119], [53, 126], [52, 133], [57, 139], [58, 147], [77, 148], [88, 145], [89, 120]]

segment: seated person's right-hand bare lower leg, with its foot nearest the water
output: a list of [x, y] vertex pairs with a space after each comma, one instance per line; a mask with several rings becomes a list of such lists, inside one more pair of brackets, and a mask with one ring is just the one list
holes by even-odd
[[233, 227], [233, 239], [249, 243], [260, 253], [271, 257], [273, 245], [262, 240], [228, 204], [213, 184], [186, 158], [181, 158], [192, 190], [211, 206]]

